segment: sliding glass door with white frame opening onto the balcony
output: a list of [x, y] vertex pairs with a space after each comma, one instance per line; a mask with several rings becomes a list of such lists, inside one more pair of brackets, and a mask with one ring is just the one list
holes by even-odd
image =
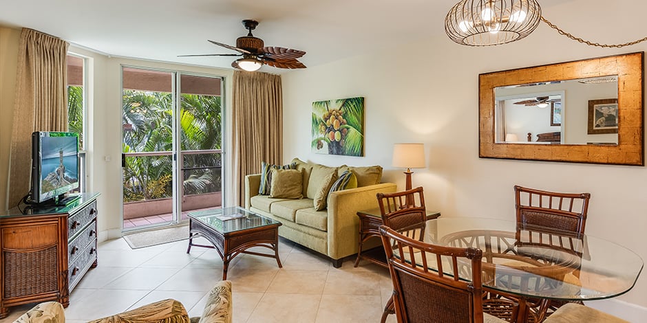
[[123, 67], [125, 231], [222, 205], [220, 93], [218, 77]]

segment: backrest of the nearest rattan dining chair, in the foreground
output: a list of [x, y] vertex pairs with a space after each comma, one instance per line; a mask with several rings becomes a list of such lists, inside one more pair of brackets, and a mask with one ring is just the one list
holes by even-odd
[[[431, 245], [385, 225], [380, 233], [398, 322], [483, 322], [480, 249]], [[438, 271], [429, 269], [429, 262], [437, 263]], [[471, 282], [460, 279], [465, 275]]]

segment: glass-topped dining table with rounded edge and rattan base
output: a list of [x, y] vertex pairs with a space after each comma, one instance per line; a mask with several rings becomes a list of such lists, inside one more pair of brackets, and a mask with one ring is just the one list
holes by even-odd
[[[521, 320], [528, 315], [526, 300], [622, 295], [633, 288], [644, 266], [640, 256], [617, 243], [516, 221], [446, 217], [399, 231], [434, 245], [481, 249], [483, 287], [518, 296]], [[399, 256], [398, 250], [394, 254]], [[461, 266], [460, 278], [469, 280], [471, 266]], [[429, 259], [427, 267], [437, 271], [437, 260]]]

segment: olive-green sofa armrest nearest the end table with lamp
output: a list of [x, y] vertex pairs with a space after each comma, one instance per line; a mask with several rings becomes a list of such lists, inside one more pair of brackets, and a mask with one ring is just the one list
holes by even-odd
[[359, 249], [357, 211], [377, 208], [377, 193], [390, 193], [396, 190], [395, 183], [379, 183], [332, 192], [328, 197], [328, 256], [339, 259], [357, 254]]

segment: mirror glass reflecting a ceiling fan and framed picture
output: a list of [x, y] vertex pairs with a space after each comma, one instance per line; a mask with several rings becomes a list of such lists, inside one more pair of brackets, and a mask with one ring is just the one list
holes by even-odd
[[495, 142], [618, 144], [617, 75], [496, 87]]

